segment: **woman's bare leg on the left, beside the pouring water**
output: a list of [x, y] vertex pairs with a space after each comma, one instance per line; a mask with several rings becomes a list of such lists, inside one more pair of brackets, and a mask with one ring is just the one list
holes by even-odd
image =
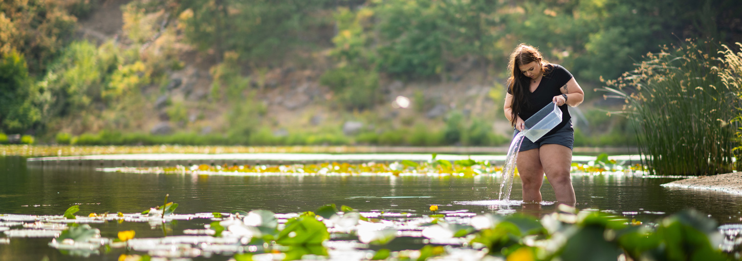
[[516, 165], [522, 181], [523, 202], [541, 202], [544, 170], [539, 159], [539, 149], [519, 152]]

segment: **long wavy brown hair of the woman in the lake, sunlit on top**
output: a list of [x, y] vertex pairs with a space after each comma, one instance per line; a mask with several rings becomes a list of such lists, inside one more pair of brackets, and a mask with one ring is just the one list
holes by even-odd
[[526, 92], [530, 86], [525, 84], [528, 82], [524, 81], [525, 76], [520, 71], [520, 66], [528, 65], [531, 62], [541, 62], [541, 73], [546, 74], [546, 66], [549, 62], [543, 59], [541, 52], [536, 47], [528, 44], [518, 44], [513, 53], [510, 53], [510, 59], [508, 60], [508, 71], [510, 71], [508, 92], [513, 95], [513, 104], [510, 105], [510, 108], [513, 109], [510, 125], [513, 126], [518, 119], [518, 113], [529, 106]]

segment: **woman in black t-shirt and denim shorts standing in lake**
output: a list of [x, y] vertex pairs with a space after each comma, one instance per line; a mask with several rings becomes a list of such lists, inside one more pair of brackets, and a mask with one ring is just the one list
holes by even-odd
[[574, 188], [569, 175], [574, 129], [567, 105], [582, 103], [585, 93], [568, 70], [550, 64], [535, 47], [519, 44], [510, 53], [510, 78], [505, 95], [505, 116], [516, 133], [525, 120], [551, 102], [562, 110], [562, 122], [536, 142], [524, 138], [516, 159], [523, 185], [523, 202], [541, 202], [543, 176], [549, 179], [557, 201], [574, 205]]

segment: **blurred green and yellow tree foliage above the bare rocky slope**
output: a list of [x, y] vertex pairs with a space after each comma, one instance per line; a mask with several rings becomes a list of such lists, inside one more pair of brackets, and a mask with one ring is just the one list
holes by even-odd
[[[4, 95], [28, 97], [0, 105], [4, 131], [99, 111], [91, 108], [116, 111], [96, 117], [128, 126], [121, 122], [131, 122], [127, 113], [145, 100], [139, 92], [165, 86], [168, 72], [183, 67], [176, 49], [185, 44], [213, 58], [206, 62], [216, 64], [214, 96], [235, 100], [244, 98], [244, 74], [252, 70], [263, 87], [265, 72], [276, 66], [329, 56], [332, 65], [307, 66], [324, 72], [321, 83], [335, 102], [358, 110], [377, 105], [386, 79], [445, 81], [477, 68], [502, 76], [506, 56], [520, 42], [539, 47], [580, 82], [598, 82], [679, 39], [742, 40], [742, 5], [735, 0], [135, 0], [121, 8], [123, 32], [115, 42], [70, 41], [77, 17], [99, 2], [0, 1]], [[22, 71], [21, 64], [27, 76], [7, 73]], [[482, 126], [470, 130], [480, 134], [456, 140], [485, 140]], [[243, 127], [233, 132], [255, 131]]]

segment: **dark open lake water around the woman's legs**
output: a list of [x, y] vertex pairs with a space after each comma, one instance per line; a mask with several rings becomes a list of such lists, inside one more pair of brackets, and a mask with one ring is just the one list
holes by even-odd
[[[742, 223], [742, 196], [709, 191], [663, 188], [676, 179], [640, 178], [623, 175], [574, 175], [577, 208], [615, 211], [626, 217], [654, 221], [686, 208], [709, 214], [720, 224]], [[138, 213], [162, 205], [165, 194], [180, 206], [177, 213], [251, 211], [275, 213], [314, 211], [321, 205], [349, 205], [361, 211], [430, 214], [430, 205], [440, 211], [480, 213], [547, 214], [555, 206], [545, 202], [540, 209], [522, 205], [498, 205], [499, 178], [495, 176], [199, 176], [181, 174], [122, 174], [92, 168], [41, 168], [27, 166], [22, 157], [0, 157], [0, 214], [60, 215], [80, 204], [78, 216], [90, 213]], [[545, 182], [543, 199], [554, 200]], [[511, 199], [521, 198], [515, 179]], [[172, 234], [185, 229], [203, 229], [203, 220], [179, 221]], [[147, 223], [95, 225], [103, 237], [117, 231], [137, 231], [137, 237], [162, 237], [162, 230]], [[0, 260], [117, 260], [120, 253], [73, 257], [49, 248], [49, 238], [12, 238], [0, 234]], [[394, 250], [394, 249], [393, 249]], [[223, 260], [229, 257], [223, 257]], [[194, 260], [199, 260], [196, 258]]]

